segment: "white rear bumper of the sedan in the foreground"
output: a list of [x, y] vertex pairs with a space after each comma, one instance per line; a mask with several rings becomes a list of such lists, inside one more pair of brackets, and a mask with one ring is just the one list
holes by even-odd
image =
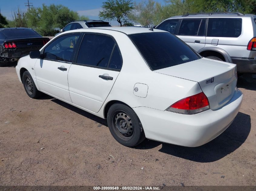
[[148, 139], [175, 145], [197, 147], [216, 138], [233, 122], [241, 107], [243, 94], [236, 90], [233, 98], [217, 110], [184, 115], [148, 107], [135, 107]]

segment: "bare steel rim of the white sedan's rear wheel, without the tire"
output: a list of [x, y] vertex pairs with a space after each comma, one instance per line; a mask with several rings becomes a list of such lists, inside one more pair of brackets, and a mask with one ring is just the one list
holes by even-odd
[[129, 140], [134, 134], [131, 117], [124, 111], [116, 111], [112, 115], [112, 125], [116, 134], [123, 140]]

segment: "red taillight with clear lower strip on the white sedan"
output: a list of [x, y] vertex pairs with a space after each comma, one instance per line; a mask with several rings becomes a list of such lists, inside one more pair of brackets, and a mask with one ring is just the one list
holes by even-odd
[[203, 92], [201, 92], [177, 101], [166, 110], [175, 113], [195, 114], [208, 110], [209, 108], [208, 98]]

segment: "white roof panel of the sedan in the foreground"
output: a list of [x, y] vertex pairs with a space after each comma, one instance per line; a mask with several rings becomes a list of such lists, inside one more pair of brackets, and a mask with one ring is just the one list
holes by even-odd
[[[164, 30], [158, 30], [153, 29], [149, 30], [149, 28], [144, 27], [92, 27], [88, 29], [77, 29], [79, 31], [88, 32], [88, 30], [114, 30], [125, 34], [136, 34], [136, 33], [151, 33], [151, 32], [164, 32], [167, 33], [167, 31]], [[74, 30], [73, 30], [74, 31]]]

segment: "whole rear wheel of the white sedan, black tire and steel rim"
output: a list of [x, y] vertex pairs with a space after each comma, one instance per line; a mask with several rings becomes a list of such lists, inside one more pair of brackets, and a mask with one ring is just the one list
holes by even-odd
[[124, 104], [113, 104], [108, 110], [107, 121], [112, 136], [122, 145], [134, 147], [145, 139], [140, 119]]

